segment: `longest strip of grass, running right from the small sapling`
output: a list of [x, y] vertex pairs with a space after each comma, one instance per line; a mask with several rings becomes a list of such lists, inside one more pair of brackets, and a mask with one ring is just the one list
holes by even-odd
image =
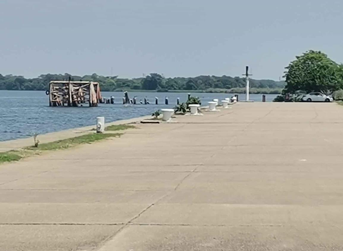
[[81, 144], [90, 144], [95, 141], [112, 138], [112, 137], [119, 137], [122, 134], [120, 133], [91, 133], [86, 135], [77, 136], [74, 138], [58, 140], [49, 143], [39, 144], [38, 147], [26, 147], [27, 150], [42, 150], [42, 151], [52, 151], [52, 150], [59, 150], [59, 149], [67, 149], [70, 147], [74, 147], [76, 145]]

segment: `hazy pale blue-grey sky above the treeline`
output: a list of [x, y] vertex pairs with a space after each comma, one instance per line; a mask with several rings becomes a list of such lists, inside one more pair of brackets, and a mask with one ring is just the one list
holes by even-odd
[[313, 49], [343, 62], [341, 0], [0, 0], [0, 73], [279, 80]]

